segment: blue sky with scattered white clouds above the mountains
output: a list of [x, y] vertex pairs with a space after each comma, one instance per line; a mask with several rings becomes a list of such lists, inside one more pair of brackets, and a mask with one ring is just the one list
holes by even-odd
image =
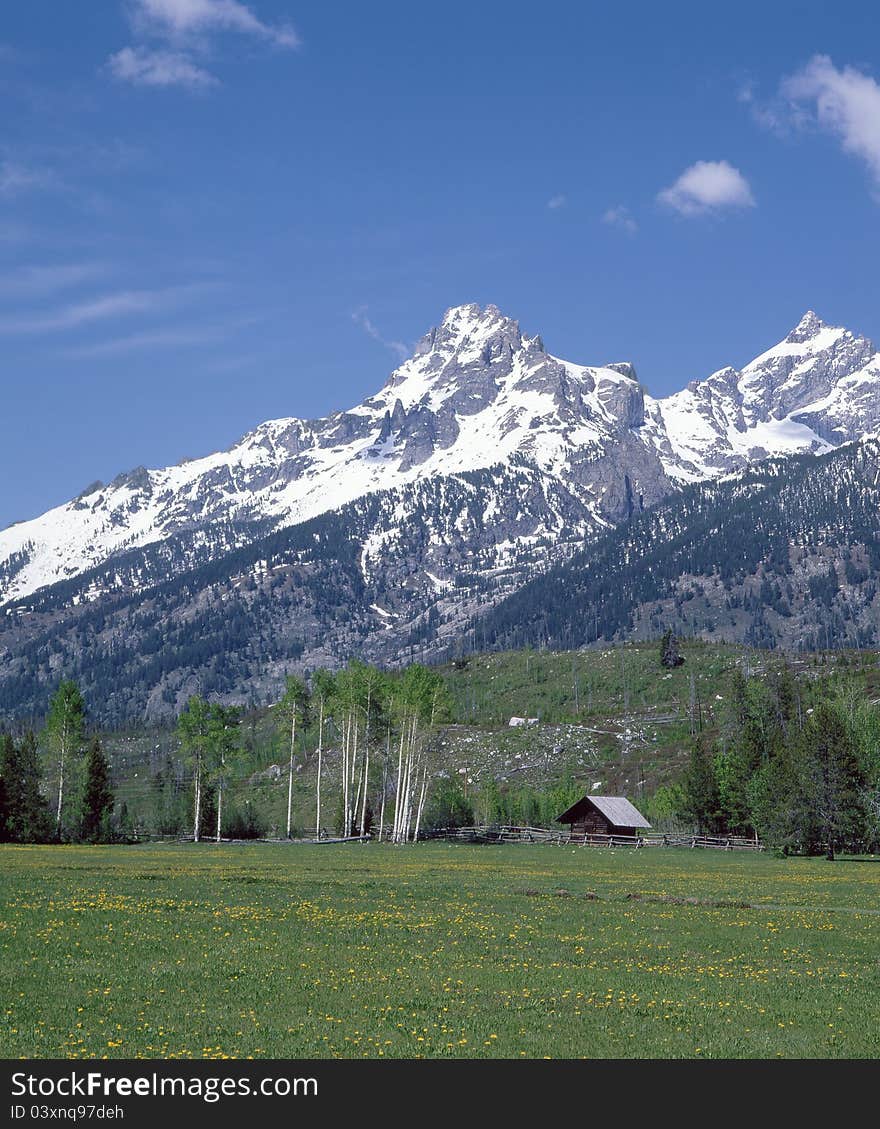
[[0, 526], [349, 406], [464, 301], [655, 394], [809, 307], [880, 340], [874, 6], [611, 8], [5, 5]]

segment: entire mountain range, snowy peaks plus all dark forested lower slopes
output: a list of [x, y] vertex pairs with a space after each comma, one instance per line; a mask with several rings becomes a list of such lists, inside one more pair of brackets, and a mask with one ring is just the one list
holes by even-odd
[[[352, 655], [394, 666], [670, 624], [722, 638], [721, 622], [795, 649], [820, 644], [817, 624], [875, 639], [860, 498], [880, 506], [879, 417], [873, 347], [812, 313], [742, 369], [653, 400], [627, 362], [578, 366], [497, 307], [453, 307], [356, 408], [93, 483], [0, 534], [0, 715], [38, 716], [62, 671], [121, 724], [172, 717], [193, 692], [270, 701], [290, 669]], [[847, 470], [849, 435], [865, 455]], [[821, 528], [779, 514], [786, 473], [801, 487], [784, 497], [819, 499]], [[785, 563], [786, 536], [812, 544], [829, 526], [836, 555]], [[712, 552], [743, 546], [743, 575], [718, 586]], [[535, 627], [544, 605], [555, 633]]]

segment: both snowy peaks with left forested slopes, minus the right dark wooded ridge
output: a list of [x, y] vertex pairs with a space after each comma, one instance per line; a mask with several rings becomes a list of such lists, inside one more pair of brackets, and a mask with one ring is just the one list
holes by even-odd
[[[494, 306], [455, 307], [348, 411], [269, 421], [2, 531], [0, 689], [36, 710], [59, 669], [115, 679], [122, 717], [172, 712], [197, 669], [270, 694], [294, 660], [436, 653], [687, 483], [878, 428], [873, 345], [812, 313], [657, 400], [631, 365], [576, 365]], [[215, 639], [216, 618], [235, 632]]]

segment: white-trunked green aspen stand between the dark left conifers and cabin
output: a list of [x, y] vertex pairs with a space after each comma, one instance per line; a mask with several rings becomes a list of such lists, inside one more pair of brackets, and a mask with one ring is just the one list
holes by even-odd
[[[315, 835], [331, 824], [342, 838], [377, 833], [407, 842], [418, 837], [433, 779], [429, 738], [448, 712], [439, 672], [412, 664], [391, 675], [352, 659], [336, 673], [314, 671], [308, 680], [288, 675], [273, 712], [287, 745], [287, 838], [295, 831], [294, 781], [305, 764], [315, 772]], [[197, 841], [208, 834], [219, 841], [228, 830], [224, 797], [245, 762], [241, 717], [237, 707], [194, 695], [177, 719], [180, 750], [192, 781], [190, 825]], [[251, 830], [259, 826], [256, 820], [251, 822]], [[249, 831], [241, 824], [238, 830]]]

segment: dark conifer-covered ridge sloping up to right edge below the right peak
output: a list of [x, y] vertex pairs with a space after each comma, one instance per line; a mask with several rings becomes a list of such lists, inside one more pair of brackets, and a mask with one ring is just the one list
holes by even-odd
[[490, 611], [499, 649], [681, 636], [871, 647], [880, 603], [880, 445], [770, 460], [692, 485]]

